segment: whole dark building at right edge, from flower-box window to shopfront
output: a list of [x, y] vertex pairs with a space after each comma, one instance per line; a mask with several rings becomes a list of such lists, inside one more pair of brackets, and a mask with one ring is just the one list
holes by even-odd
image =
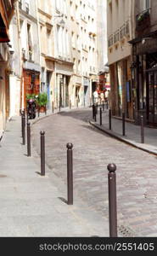
[[134, 119], [146, 125], [157, 125], [157, 3], [154, 0], [134, 1], [132, 7], [134, 34], [132, 45], [132, 87]]

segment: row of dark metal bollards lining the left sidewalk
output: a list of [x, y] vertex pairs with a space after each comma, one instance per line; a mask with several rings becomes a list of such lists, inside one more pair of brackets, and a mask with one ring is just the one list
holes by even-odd
[[[93, 109], [94, 116], [97, 109]], [[100, 108], [102, 113], [102, 108]], [[25, 145], [25, 111], [21, 113], [22, 136]], [[41, 176], [45, 176], [45, 131], [40, 131], [41, 139]], [[67, 143], [67, 204], [73, 205], [73, 144]], [[27, 155], [31, 156], [31, 124], [27, 122]], [[108, 165], [108, 183], [109, 183], [109, 236], [117, 236], [117, 212], [116, 212], [116, 166]]]

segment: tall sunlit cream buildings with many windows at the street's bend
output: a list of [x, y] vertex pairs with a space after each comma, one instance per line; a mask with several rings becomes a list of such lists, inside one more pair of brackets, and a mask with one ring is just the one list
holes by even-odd
[[38, 0], [38, 20], [49, 107], [88, 106], [98, 81], [97, 1]]

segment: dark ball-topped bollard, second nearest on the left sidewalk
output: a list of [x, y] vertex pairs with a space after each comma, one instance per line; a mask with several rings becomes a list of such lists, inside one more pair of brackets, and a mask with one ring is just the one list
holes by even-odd
[[72, 157], [72, 143], [67, 143], [67, 192], [68, 192], [68, 205], [73, 205], [73, 157]]

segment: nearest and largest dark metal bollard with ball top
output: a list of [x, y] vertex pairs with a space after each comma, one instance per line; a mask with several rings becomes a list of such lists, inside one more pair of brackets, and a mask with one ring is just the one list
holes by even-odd
[[117, 211], [116, 211], [116, 166], [108, 165], [108, 183], [109, 183], [109, 236], [117, 237]]

